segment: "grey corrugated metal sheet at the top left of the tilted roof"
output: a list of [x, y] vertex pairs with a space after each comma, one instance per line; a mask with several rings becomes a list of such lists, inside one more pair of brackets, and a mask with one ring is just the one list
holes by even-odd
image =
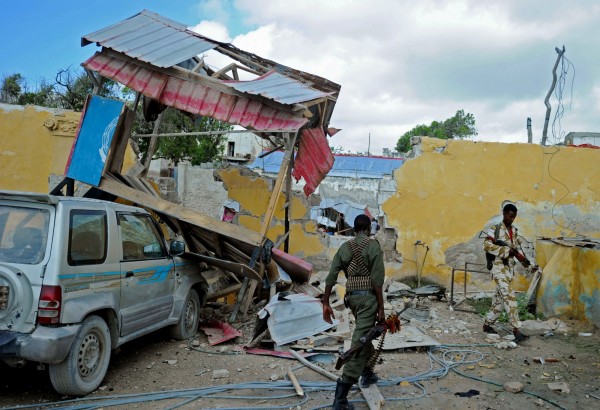
[[215, 48], [218, 43], [194, 35], [183, 24], [148, 10], [81, 38], [157, 67], [172, 67]]

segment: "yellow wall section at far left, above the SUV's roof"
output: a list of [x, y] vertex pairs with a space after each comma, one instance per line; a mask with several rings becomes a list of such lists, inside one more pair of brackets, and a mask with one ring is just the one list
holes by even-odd
[[[81, 113], [0, 104], [0, 189], [49, 192], [51, 175], [64, 175]], [[124, 169], [135, 161], [128, 147]]]

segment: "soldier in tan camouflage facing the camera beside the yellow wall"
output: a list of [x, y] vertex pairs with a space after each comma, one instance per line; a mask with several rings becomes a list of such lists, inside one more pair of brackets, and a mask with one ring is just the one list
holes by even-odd
[[[492, 307], [485, 317], [483, 331], [486, 333], [497, 333], [492, 327], [498, 320], [498, 316], [505, 311], [510, 317], [510, 324], [513, 327], [513, 334], [516, 342], [526, 340], [519, 328], [519, 313], [517, 309], [517, 299], [512, 289], [511, 283], [515, 272], [515, 256], [517, 255], [517, 246], [521, 245], [521, 238], [518, 230], [513, 226], [513, 221], [517, 217], [517, 207], [513, 204], [507, 204], [502, 210], [503, 219], [499, 225], [492, 226], [490, 232], [483, 242], [483, 249], [488, 255], [495, 256], [490, 273], [496, 282], [496, 292], [492, 297]], [[493, 234], [490, 234], [494, 232]], [[510, 246], [500, 246], [495, 244], [500, 240]]]

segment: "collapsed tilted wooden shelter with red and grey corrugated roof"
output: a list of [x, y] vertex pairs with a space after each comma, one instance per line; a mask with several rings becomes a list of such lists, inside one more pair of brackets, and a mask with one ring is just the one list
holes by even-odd
[[[286, 252], [293, 212], [290, 185], [292, 176], [303, 178], [304, 192], [310, 195], [333, 165], [327, 135], [335, 132], [329, 121], [341, 87], [212, 40], [147, 10], [82, 37], [82, 46], [93, 43], [102, 48], [82, 64], [88, 75], [97, 88], [111, 79], [135, 91], [134, 107], [98, 96], [88, 98], [66, 178], [52, 193], [73, 194], [75, 182], [83, 182], [92, 187], [86, 196], [118, 197], [154, 211], [183, 236], [199, 261], [227, 273], [213, 281], [218, 286], [212, 298], [237, 293], [232, 318], [238, 309], [246, 313], [263, 285], [276, 291], [281, 270], [306, 282], [311, 265]], [[215, 69], [205, 61], [209, 52], [231, 62]], [[146, 120], [160, 121], [160, 113], [171, 107], [242, 126], [274, 148], [284, 148], [283, 165], [260, 229], [250, 230], [166, 201], [144, 178], [146, 167], [123, 167], [138, 104]], [[118, 120], [98, 120], [114, 117], [107, 114], [111, 110]], [[152, 136], [151, 147], [158, 137]], [[286, 201], [283, 206], [282, 201]], [[285, 231], [274, 244], [266, 233], [279, 209], [286, 214]], [[282, 245], [284, 251], [278, 249]]]

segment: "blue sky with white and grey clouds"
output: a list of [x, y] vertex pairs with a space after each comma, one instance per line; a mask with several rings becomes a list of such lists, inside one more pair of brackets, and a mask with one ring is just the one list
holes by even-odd
[[[18, 3], [18, 4], [13, 4]], [[418, 124], [463, 109], [476, 140], [542, 136], [555, 47], [566, 48], [564, 112], [549, 142], [600, 132], [600, 2], [596, 0], [21, 0], [3, 4], [0, 75], [34, 84], [94, 52], [82, 35], [146, 8], [216, 40], [342, 86], [331, 145], [371, 154]], [[27, 31], [23, 22], [28, 22]], [[552, 127], [554, 123], [554, 128]]]

